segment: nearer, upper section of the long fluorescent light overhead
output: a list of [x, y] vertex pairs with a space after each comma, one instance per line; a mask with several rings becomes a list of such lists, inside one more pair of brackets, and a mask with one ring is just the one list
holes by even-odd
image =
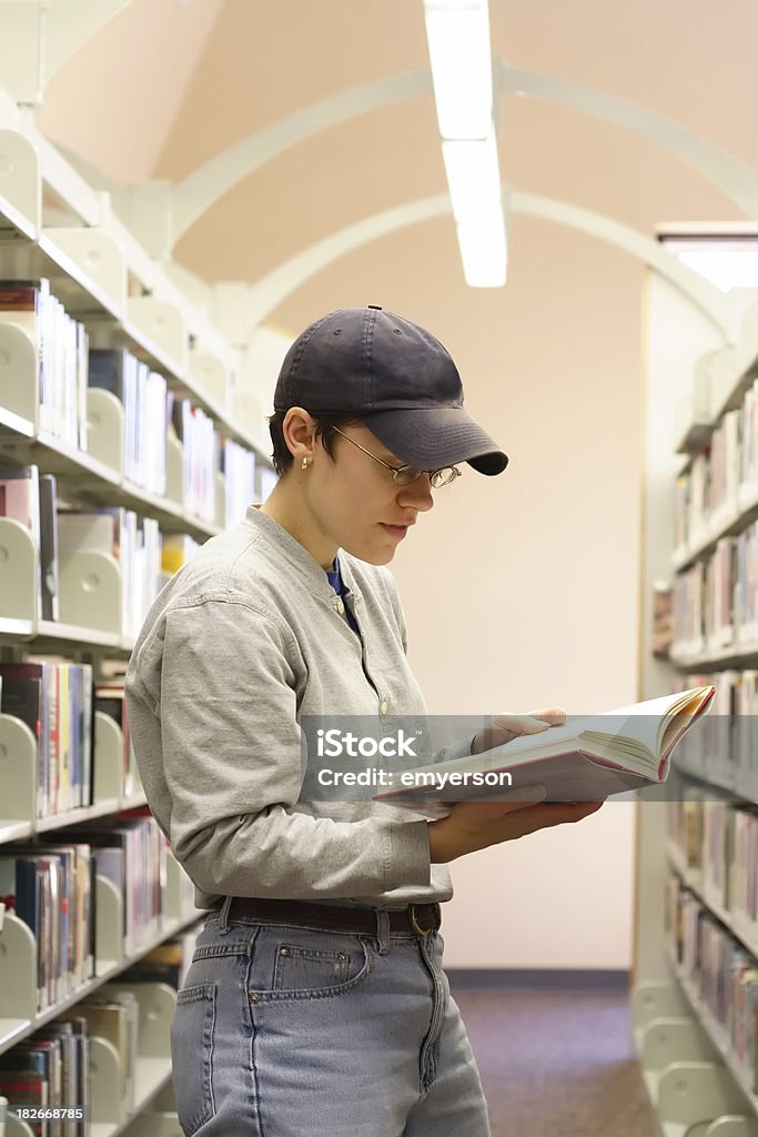
[[443, 139], [483, 139], [492, 130], [488, 0], [425, 0], [434, 99]]

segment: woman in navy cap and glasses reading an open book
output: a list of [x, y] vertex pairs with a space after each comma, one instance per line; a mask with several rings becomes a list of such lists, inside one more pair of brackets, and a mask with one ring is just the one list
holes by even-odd
[[[213, 910], [173, 1028], [182, 1128], [485, 1137], [442, 971], [447, 863], [598, 804], [459, 803], [428, 821], [302, 800], [300, 724], [424, 714], [384, 566], [457, 463], [508, 459], [442, 345], [374, 306], [298, 338], [270, 430], [276, 488], [164, 589], [127, 675], [148, 800]], [[459, 753], [560, 721], [499, 720]]]

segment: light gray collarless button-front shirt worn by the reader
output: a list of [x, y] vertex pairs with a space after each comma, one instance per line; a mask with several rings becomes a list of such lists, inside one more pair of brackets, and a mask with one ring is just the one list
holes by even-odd
[[126, 702], [148, 803], [195, 886], [390, 907], [445, 901], [427, 822], [374, 802], [300, 800], [302, 715], [423, 715], [394, 580], [340, 554], [361, 637], [324, 570], [250, 507], [148, 614]]

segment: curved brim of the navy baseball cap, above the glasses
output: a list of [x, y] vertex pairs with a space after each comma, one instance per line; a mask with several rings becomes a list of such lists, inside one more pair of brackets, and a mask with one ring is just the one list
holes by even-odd
[[508, 456], [463, 407], [381, 410], [364, 418], [372, 434], [417, 470], [467, 462], [481, 474], [501, 474]]

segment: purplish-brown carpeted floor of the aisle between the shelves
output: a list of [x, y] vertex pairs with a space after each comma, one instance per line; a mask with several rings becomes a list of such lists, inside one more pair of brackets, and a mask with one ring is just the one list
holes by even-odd
[[451, 976], [492, 1137], [657, 1137], [626, 990], [472, 986]]

